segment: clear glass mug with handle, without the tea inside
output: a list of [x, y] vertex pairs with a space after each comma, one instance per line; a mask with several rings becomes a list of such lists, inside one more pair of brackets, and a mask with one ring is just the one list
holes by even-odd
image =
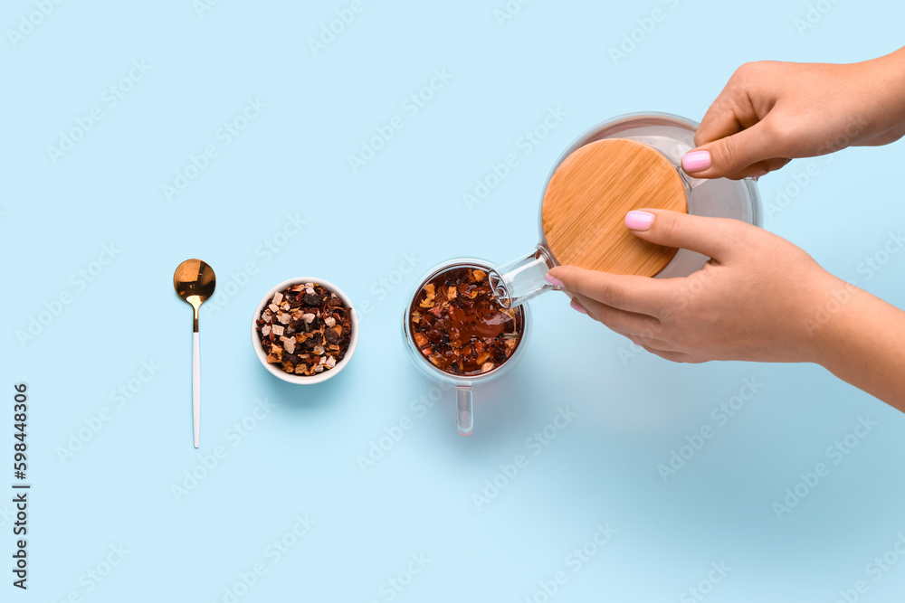
[[418, 281], [418, 287], [415, 288], [414, 293], [409, 297], [409, 303], [405, 306], [405, 315], [403, 316], [402, 332], [403, 338], [405, 339], [405, 349], [408, 351], [412, 362], [427, 376], [439, 382], [449, 383], [456, 389], [456, 425], [459, 428], [459, 435], [461, 436], [470, 436], [474, 431], [472, 386], [477, 383], [489, 382], [492, 379], [500, 377], [503, 373], [510, 371], [510, 369], [519, 362], [519, 358], [522, 353], [524, 353], [525, 341], [530, 330], [530, 313], [528, 306], [521, 306], [521, 308], [519, 308], [522, 313], [521, 336], [519, 338], [519, 344], [516, 345], [515, 350], [512, 351], [510, 357], [507, 358], [505, 362], [500, 363], [499, 366], [491, 369], [491, 371], [481, 372], [480, 374], [475, 375], [457, 375], [445, 372], [437, 366], [434, 366], [433, 363], [424, 357], [424, 354], [421, 353], [421, 350], [419, 350], [418, 346], [414, 343], [412, 319], [410, 315], [411, 307], [415, 298], [418, 297], [418, 294], [424, 289], [424, 285], [441, 273], [456, 268], [481, 269], [489, 273], [492, 266], [491, 262], [483, 259], [460, 258], [451, 259], [433, 267], [433, 269], [430, 269], [424, 275], [424, 278], [421, 278], [421, 280]]

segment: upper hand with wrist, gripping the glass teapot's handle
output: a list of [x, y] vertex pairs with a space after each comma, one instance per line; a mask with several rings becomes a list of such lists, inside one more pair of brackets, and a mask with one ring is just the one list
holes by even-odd
[[752, 62], [713, 101], [682, 168], [696, 178], [739, 179], [902, 136], [905, 48], [845, 65]]

